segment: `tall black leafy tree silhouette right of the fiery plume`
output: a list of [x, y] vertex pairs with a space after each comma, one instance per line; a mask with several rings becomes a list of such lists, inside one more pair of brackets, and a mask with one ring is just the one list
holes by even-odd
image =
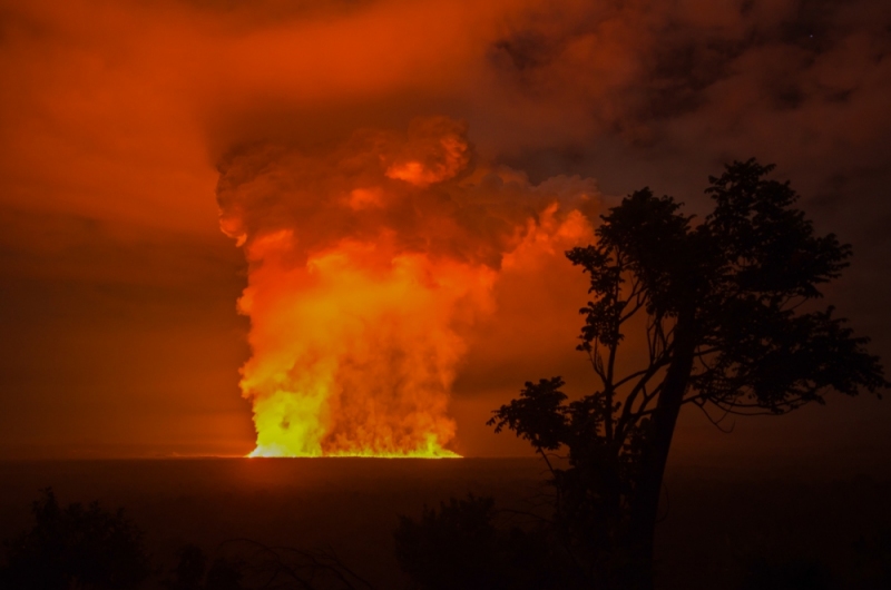
[[[495, 411], [551, 468], [554, 528], [572, 562], [601, 588], [653, 584], [653, 533], [668, 450], [681, 409], [694, 404], [719, 422], [727, 414], [782, 414], [823, 403], [829, 390], [855, 395], [888, 387], [866, 338], [820, 287], [838, 278], [851, 247], [817, 236], [794, 208], [773, 166], [734, 163], [709, 177], [714, 210], [699, 223], [672, 197], [645, 188], [603, 217], [597, 242], [567, 253], [590, 276], [593, 301], [579, 350], [601, 387], [568, 402], [560, 377], [528, 382]], [[629, 331], [646, 344], [618, 371]]]

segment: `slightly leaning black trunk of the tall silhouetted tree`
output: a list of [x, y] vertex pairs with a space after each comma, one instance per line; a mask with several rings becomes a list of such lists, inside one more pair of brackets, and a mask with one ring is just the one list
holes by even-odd
[[630, 567], [634, 570], [631, 587], [635, 590], [653, 589], [653, 542], [659, 496], [672, 436], [693, 370], [696, 350], [694, 321], [692, 311], [678, 315], [675, 326], [675, 355], [666, 371], [640, 458], [640, 475], [630, 505], [628, 539]]

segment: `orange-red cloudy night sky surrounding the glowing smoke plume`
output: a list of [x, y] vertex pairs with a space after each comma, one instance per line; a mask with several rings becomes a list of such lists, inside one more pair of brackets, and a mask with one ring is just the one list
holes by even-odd
[[[649, 185], [703, 212], [723, 161], [776, 161], [853, 243], [831, 295], [891, 358], [889, 24], [879, 0], [0, 2], [0, 455], [249, 452], [248, 267], [219, 229], [218, 166], [322, 158], [418, 117], [466, 124], [468, 170], [604, 206]], [[502, 271], [462, 336], [457, 450], [525, 451], [482, 425], [523, 381], [593, 385], [584, 289], [559, 256]], [[887, 405], [833, 399], [733, 436], [688, 416], [678, 453], [891, 456]]]

